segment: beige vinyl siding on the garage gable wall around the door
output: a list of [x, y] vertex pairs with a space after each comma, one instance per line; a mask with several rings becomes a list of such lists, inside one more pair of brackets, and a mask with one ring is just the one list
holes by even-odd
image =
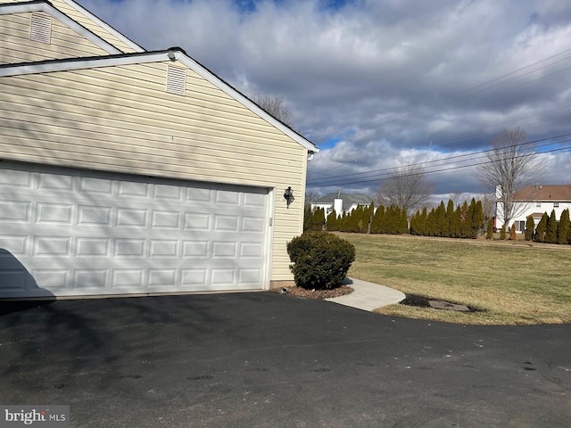
[[291, 279], [306, 149], [192, 70], [186, 96], [166, 94], [172, 64], [0, 78], [0, 157], [274, 188], [271, 279]]

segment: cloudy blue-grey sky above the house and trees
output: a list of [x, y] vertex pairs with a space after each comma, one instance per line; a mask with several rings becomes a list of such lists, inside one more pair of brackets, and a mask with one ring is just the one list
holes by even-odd
[[541, 140], [542, 184], [571, 183], [571, 2], [79, 4], [147, 50], [182, 47], [244, 95], [283, 97], [320, 148], [308, 169], [320, 194], [374, 195], [418, 163], [436, 198], [482, 193], [473, 165], [515, 127]]

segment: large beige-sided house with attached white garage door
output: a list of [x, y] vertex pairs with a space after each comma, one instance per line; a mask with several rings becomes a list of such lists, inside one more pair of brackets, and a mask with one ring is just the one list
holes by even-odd
[[70, 0], [0, 0], [0, 61], [0, 297], [293, 281], [314, 144]]

